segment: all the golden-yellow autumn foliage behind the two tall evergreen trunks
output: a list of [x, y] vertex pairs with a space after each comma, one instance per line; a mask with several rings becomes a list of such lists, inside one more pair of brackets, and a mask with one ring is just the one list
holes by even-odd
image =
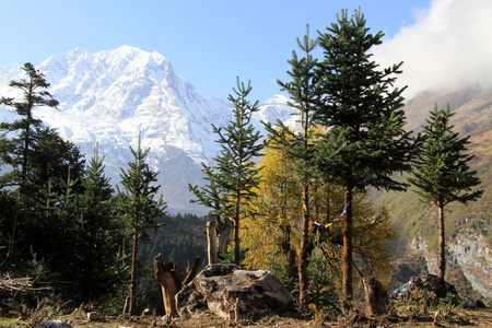
[[[302, 185], [293, 171], [294, 161], [280, 148], [263, 149], [259, 166], [262, 181], [255, 190], [258, 197], [248, 203], [250, 211], [259, 213], [242, 219], [242, 243], [248, 250], [244, 263], [250, 269], [273, 271], [288, 288], [295, 285], [297, 277], [296, 253], [302, 236]], [[344, 191], [340, 186], [311, 181], [311, 218], [321, 227], [309, 227], [311, 254], [323, 258], [330, 274], [338, 277], [336, 288], [341, 290], [343, 226], [336, 219], [344, 204]], [[389, 274], [393, 254], [388, 242], [396, 237], [390, 215], [368, 199], [367, 194], [355, 192], [352, 203], [354, 220], [354, 261], [359, 281], [365, 276], [385, 279]], [[335, 222], [335, 223], [333, 223]], [[338, 282], [337, 282], [338, 281]], [[312, 283], [309, 283], [311, 285]], [[314, 286], [313, 286], [314, 288]]]

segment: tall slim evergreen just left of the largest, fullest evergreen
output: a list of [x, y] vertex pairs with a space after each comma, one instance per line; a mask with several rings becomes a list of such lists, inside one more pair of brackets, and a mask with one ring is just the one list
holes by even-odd
[[312, 52], [317, 46], [318, 40], [309, 39], [308, 27], [303, 40], [297, 38], [297, 45], [304, 52], [303, 58], [298, 58], [297, 54], [292, 51], [292, 59], [289, 63], [292, 67], [288, 74], [292, 79], [291, 82], [278, 81], [283, 91], [286, 91], [292, 99], [289, 105], [298, 110], [302, 131], [297, 132], [289, 129], [282, 122], [277, 122], [277, 128], [266, 125], [270, 139], [285, 151], [286, 154], [295, 159], [296, 173], [303, 188], [303, 224], [302, 238], [298, 254], [298, 286], [300, 286], [300, 304], [303, 308], [307, 308], [308, 304], [308, 278], [307, 278], [307, 257], [309, 248], [309, 180], [313, 172], [309, 162], [313, 157], [313, 144], [309, 144], [312, 137], [309, 132], [313, 128], [312, 113], [318, 101], [318, 84], [315, 78], [315, 67], [317, 60]]

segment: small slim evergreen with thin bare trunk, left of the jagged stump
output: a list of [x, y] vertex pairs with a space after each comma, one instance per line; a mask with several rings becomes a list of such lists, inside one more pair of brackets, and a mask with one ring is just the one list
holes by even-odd
[[131, 315], [137, 311], [137, 280], [138, 280], [138, 246], [139, 239], [150, 229], [156, 230], [160, 224], [156, 218], [165, 214], [166, 203], [162, 196], [159, 200], [154, 197], [157, 195], [160, 185], [153, 185], [157, 181], [159, 172], [153, 172], [149, 164], [145, 163], [145, 156], [150, 149], [142, 150], [139, 144], [137, 150], [130, 147], [134, 162], [128, 163], [128, 171], [121, 168], [121, 185], [124, 192], [122, 212], [129, 216], [129, 224], [133, 235], [133, 247], [131, 253], [131, 278], [130, 278], [130, 306]]

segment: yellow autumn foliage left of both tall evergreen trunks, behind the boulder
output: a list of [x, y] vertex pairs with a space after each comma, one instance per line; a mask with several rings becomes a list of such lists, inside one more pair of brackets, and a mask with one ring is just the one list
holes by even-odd
[[296, 274], [296, 241], [298, 237], [301, 187], [295, 183], [290, 159], [279, 149], [266, 148], [259, 166], [262, 181], [253, 199], [248, 212], [258, 213], [244, 219], [242, 239], [248, 248], [244, 263], [250, 268], [268, 268], [272, 271], [272, 259], [285, 269], [286, 277]]

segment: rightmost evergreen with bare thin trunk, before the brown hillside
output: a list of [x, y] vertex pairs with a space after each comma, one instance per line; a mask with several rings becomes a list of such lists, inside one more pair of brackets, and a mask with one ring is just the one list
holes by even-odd
[[424, 144], [418, 155], [415, 171], [409, 178], [417, 187], [419, 198], [438, 208], [440, 222], [440, 278], [444, 281], [446, 271], [445, 238], [444, 238], [444, 208], [450, 202], [458, 201], [467, 204], [482, 197], [483, 190], [472, 191], [481, 184], [477, 172], [472, 171], [469, 162], [475, 155], [466, 154], [470, 137], [459, 138], [453, 132], [449, 119], [455, 113], [449, 109], [437, 110], [437, 104], [431, 112], [427, 125], [423, 127]]

